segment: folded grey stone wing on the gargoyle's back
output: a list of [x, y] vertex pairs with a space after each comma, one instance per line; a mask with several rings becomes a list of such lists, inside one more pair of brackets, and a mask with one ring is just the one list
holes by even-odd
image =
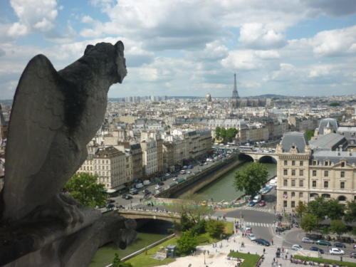
[[63, 126], [61, 84], [63, 80], [46, 56], [35, 56], [23, 70], [6, 144], [5, 195], [21, 198], [23, 187], [29, 184], [27, 177], [36, 174], [48, 157], [56, 131]]

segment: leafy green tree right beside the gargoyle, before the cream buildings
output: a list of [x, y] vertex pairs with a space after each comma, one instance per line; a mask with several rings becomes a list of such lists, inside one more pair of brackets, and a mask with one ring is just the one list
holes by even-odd
[[86, 172], [74, 174], [64, 186], [64, 190], [84, 206], [103, 206], [107, 196], [104, 184], [98, 184], [97, 179], [98, 176]]

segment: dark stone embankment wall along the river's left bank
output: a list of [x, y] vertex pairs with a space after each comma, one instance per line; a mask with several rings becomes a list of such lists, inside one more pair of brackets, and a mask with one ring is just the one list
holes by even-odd
[[188, 193], [194, 194], [199, 189], [219, 179], [222, 175], [231, 171], [244, 162], [238, 159], [238, 155], [234, 155], [229, 159], [222, 159], [218, 164], [214, 164], [203, 171], [194, 174], [187, 178], [184, 182], [177, 184], [174, 187], [164, 190], [156, 194], [156, 198], [179, 198], [180, 195]]

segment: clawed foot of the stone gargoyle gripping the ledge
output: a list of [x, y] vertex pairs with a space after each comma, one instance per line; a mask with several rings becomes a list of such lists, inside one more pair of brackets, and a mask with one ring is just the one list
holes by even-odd
[[48, 201], [46, 205], [39, 207], [31, 216], [31, 219], [46, 221], [56, 219], [61, 221], [66, 228], [74, 227], [83, 223], [83, 213], [78, 209], [78, 206], [74, 199], [72, 201], [68, 197], [57, 195], [51, 201]]

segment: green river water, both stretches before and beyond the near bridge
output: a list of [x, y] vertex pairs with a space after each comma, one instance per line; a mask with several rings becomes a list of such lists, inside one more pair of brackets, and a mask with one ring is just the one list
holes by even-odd
[[[231, 172], [228, 172], [220, 179], [212, 182], [208, 186], [199, 190], [195, 193], [197, 199], [214, 199], [214, 201], [219, 202], [222, 200], [231, 201], [240, 197], [243, 192], [236, 192], [234, 188], [234, 174], [237, 171], [242, 171], [249, 164], [244, 163], [232, 169]], [[276, 164], [272, 163], [262, 163], [268, 169], [269, 177], [276, 175]], [[184, 194], [183, 194], [184, 197]], [[167, 236], [167, 229], [170, 226], [169, 223], [162, 222], [162, 225], [157, 227], [157, 221], [153, 221], [152, 224], [146, 224], [144, 228], [137, 231], [137, 240], [128, 246], [125, 250], [121, 250], [116, 247], [115, 244], [108, 244], [100, 248], [95, 254], [90, 267], [105, 267], [112, 262], [115, 253], [118, 253], [120, 258], [129, 255], [132, 252], [144, 248], [145, 246], [152, 244], [159, 239], [163, 239], [164, 236]]]

